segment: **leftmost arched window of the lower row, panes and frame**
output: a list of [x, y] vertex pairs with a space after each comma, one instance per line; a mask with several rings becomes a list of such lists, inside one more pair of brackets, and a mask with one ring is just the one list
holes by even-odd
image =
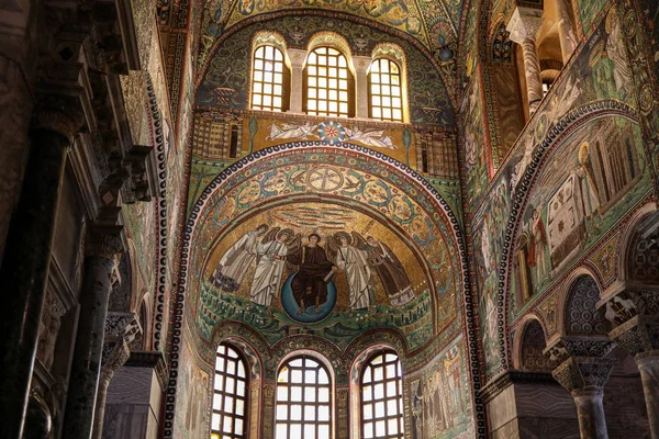
[[243, 357], [232, 347], [220, 345], [215, 359], [211, 439], [247, 437], [247, 384]]

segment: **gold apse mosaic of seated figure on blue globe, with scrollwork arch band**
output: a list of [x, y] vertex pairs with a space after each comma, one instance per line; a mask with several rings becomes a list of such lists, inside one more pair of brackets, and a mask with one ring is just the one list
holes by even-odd
[[457, 315], [443, 214], [380, 161], [292, 153], [238, 172], [201, 212], [192, 263], [204, 269], [190, 273], [200, 293], [188, 303], [202, 336], [233, 319], [270, 345], [312, 334], [345, 348], [393, 328], [423, 347]]

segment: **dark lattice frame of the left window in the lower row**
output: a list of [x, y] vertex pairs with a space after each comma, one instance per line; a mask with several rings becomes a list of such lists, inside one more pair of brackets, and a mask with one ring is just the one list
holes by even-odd
[[[224, 353], [220, 353], [220, 348], [224, 348], [225, 351]], [[228, 354], [228, 350], [232, 350], [233, 352], [235, 352], [236, 357], [231, 357]], [[222, 357], [224, 359], [224, 371], [220, 371], [217, 369], [217, 359]], [[235, 362], [235, 369], [234, 369], [234, 373], [231, 374], [227, 372], [227, 360], [228, 361], [233, 361]], [[244, 373], [245, 376], [241, 378], [238, 376], [238, 368], [239, 364], [243, 364], [243, 369], [244, 369]], [[222, 390], [217, 390], [216, 389], [216, 380], [217, 376], [222, 376]], [[227, 382], [227, 378], [232, 378], [234, 379], [234, 392], [233, 393], [228, 393], [226, 392], [226, 382]], [[244, 395], [238, 395], [237, 394], [237, 389], [238, 389], [238, 382], [243, 382], [244, 383]], [[247, 362], [247, 359], [245, 358], [245, 354], [242, 352], [241, 349], [238, 349], [237, 347], [227, 344], [227, 342], [221, 342], [217, 345], [217, 348], [215, 349], [215, 364], [213, 367], [213, 381], [212, 381], [212, 395], [211, 395], [211, 434], [210, 434], [210, 438], [214, 439], [216, 438], [223, 438], [223, 437], [231, 437], [233, 439], [239, 439], [239, 438], [247, 438], [248, 437], [248, 421], [249, 421], [249, 363]], [[215, 407], [215, 395], [220, 395], [222, 402], [226, 401], [225, 397], [232, 397], [233, 398], [233, 409], [231, 412], [225, 412], [224, 408], [217, 408]], [[236, 414], [236, 401], [241, 399], [243, 402], [243, 415], [237, 415]], [[223, 406], [224, 404], [221, 404], [221, 406]], [[223, 426], [224, 426], [224, 417], [226, 415], [230, 415], [230, 417], [232, 418], [231, 421], [231, 426], [232, 426], [232, 431], [231, 432], [225, 432], [222, 430]], [[219, 425], [219, 429], [215, 430], [213, 429], [213, 415], [220, 415], [220, 425]], [[243, 432], [242, 434], [236, 434], [235, 432], [235, 426], [236, 426], [236, 419], [239, 418], [243, 420]]]

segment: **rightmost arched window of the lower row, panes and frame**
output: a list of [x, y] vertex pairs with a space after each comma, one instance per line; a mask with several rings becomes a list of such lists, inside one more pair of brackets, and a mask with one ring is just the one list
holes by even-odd
[[403, 438], [401, 362], [393, 351], [371, 358], [361, 372], [361, 437]]

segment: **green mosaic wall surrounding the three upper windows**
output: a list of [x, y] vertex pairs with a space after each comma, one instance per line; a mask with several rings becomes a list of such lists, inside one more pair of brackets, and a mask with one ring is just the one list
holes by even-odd
[[[351, 56], [371, 57], [376, 47], [386, 42], [399, 46], [406, 55], [410, 122], [428, 125], [455, 125], [455, 90], [453, 67], [405, 34], [387, 32], [382, 26], [346, 20], [348, 16], [325, 12], [300, 16], [276, 13], [241, 23], [216, 40], [202, 36], [202, 53], [198, 59], [196, 103], [202, 109], [245, 110], [249, 102], [252, 71], [250, 54], [254, 38], [264, 31], [277, 30], [281, 45], [288, 49], [308, 50], [310, 43], [323, 32], [340, 35], [348, 42]], [[204, 44], [211, 44], [203, 52]], [[443, 59], [445, 56], [443, 55]]]

